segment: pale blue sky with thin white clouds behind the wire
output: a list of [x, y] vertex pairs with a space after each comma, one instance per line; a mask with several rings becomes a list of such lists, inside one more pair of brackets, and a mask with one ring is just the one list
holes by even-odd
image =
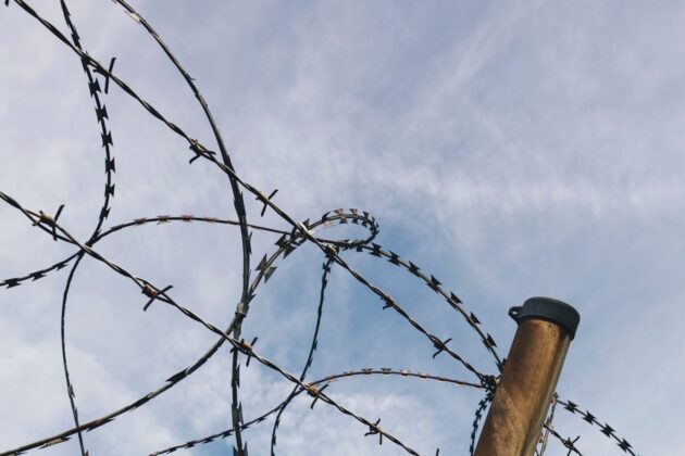
[[[103, 150], [79, 59], [17, 4], [0, 8], [0, 191], [54, 213], [86, 240], [102, 204]], [[29, 3], [61, 30], [59, 2]], [[160, 112], [215, 148], [201, 109], [144, 28], [111, 1], [67, 3], [89, 55]], [[675, 1], [411, 1], [130, 3], [201, 90], [241, 178], [297, 220], [354, 207], [376, 242], [411, 259], [473, 311], [506, 356], [510, 306], [551, 296], [581, 325], [559, 380], [637, 454], [685, 444], [685, 7]], [[103, 81], [101, 80], [101, 84]], [[116, 161], [105, 227], [142, 216], [235, 219], [225, 175], [188, 164], [187, 143], [114, 85], [102, 94]], [[252, 223], [288, 229], [246, 195]], [[0, 205], [0, 278], [51, 265], [74, 248]], [[322, 236], [365, 237], [360, 227]], [[252, 262], [277, 237], [254, 232]], [[108, 258], [224, 327], [240, 295], [235, 227], [164, 224], [97, 244]], [[496, 373], [475, 333], [435, 294], [386, 261], [344, 254], [479, 370]], [[321, 251], [303, 245], [260, 289], [244, 327], [289, 371], [307, 359]], [[68, 268], [0, 290], [0, 451], [73, 426], [62, 370], [61, 300]], [[378, 297], [334, 267], [311, 380], [393, 367], [474, 376]], [[79, 416], [94, 419], [192, 364], [216, 337], [94, 259], [75, 274], [66, 350]], [[231, 355], [147, 406], [85, 434], [90, 455], [149, 454], [231, 427]], [[242, 367], [246, 419], [291, 387]], [[340, 380], [326, 392], [421, 454], [468, 454], [482, 397], [465, 388], [388, 377]], [[276, 454], [395, 455], [390, 442], [324, 404], [284, 414]], [[623, 454], [596, 428], [558, 411], [556, 429], [586, 455]], [[246, 431], [269, 454], [271, 426]], [[178, 452], [226, 454], [234, 441]], [[35, 454], [78, 454], [74, 441]], [[228, 453], [232, 454], [232, 453]], [[550, 455], [565, 455], [551, 444]]]

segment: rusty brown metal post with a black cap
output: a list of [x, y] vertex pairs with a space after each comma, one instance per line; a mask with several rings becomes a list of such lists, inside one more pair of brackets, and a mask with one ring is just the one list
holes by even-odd
[[519, 324], [475, 456], [531, 456], [581, 317], [566, 303], [531, 297], [509, 315]]

